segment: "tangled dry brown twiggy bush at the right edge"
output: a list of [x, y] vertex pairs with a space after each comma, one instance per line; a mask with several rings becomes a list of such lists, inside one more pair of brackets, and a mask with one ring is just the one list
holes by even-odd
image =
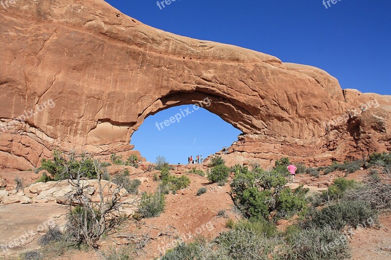
[[391, 208], [391, 175], [371, 174], [364, 185], [347, 190], [343, 200], [359, 200], [369, 203], [370, 207], [377, 210]]

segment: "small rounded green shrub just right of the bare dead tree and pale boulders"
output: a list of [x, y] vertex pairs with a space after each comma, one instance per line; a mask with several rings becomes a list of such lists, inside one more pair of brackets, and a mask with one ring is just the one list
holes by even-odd
[[144, 193], [139, 204], [139, 212], [143, 218], [153, 218], [160, 216], [165, 207], [164, 194], [157, 190], [153, 193]]

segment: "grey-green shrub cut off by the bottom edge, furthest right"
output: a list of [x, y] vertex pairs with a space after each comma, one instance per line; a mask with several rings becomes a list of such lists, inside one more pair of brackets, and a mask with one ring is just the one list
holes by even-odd
[[330, 227], [300, 232], [296, 229], [288, 242], [291, 246], [289, 259], [343, 260], [351, 257], [347, 237]]

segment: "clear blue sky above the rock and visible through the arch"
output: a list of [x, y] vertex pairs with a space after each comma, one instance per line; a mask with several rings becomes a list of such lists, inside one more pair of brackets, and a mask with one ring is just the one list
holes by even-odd
[[[336, 77], [342, 88], [391, 94], [391, 1], [341, 0], [108, 0], [109, 4], [161, 30], [200, 40], [238, 45], [312, 65]], [[234, 141], [239, 130], [206, 110], [159, 131], [183, 107], [149, 117], [132, 136], [148, 160], [165, 156], [184, 163], [204, 158]]]

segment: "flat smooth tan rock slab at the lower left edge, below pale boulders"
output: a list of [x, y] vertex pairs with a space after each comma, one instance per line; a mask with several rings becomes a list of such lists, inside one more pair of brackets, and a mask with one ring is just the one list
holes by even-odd
[[[49, 221], [62, 226], [65, 213], [64, 208], [50, 203], [0, 205], [0, 258], [39, 248], [37, 240]], [[3, 250], [6, 244], [10, 246]]]

